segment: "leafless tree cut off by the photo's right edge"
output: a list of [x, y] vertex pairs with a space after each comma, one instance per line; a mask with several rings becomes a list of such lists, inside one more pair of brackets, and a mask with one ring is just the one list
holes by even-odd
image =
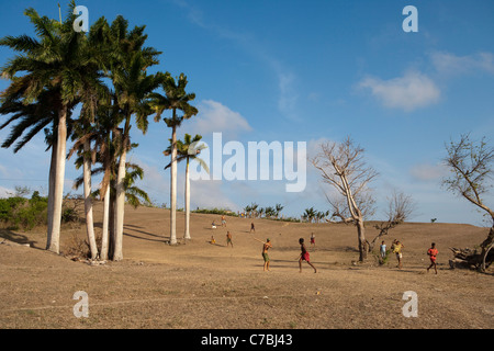
[[492, 220], [487, 238], [480, 245], [481, 252], [454, 248], [451, 250], [457, 258], [467, 261], [469, 265], [484, 271], [494, 260], [493, 254], [487, 257], [494, 244], [494, 211], [485, 205], [482, 199], [492, 186], [494, 147], [487, 145], [485, 137], [475, 143], [470, 140], [469, 134], [464, 134], [458, 143], [451, 140], [449, 145], [446, 145], [446, 149], [448, 156], [445, 162], [451, 176], [444, 179], [442, 184], [485, 212]]

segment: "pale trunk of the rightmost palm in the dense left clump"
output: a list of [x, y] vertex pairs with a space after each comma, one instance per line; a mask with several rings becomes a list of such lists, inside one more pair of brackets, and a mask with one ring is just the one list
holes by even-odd
[[124, 206], [125, 206], [125, 162], [127, 151], [124, 147], [120, 156], [119, 173], [116, 176], [116, 202], [115, 202], [115, 246], [113, 248], [113, 261], [123, 260], [122, 241], [123, 241], [123, 223], [124, 223]]

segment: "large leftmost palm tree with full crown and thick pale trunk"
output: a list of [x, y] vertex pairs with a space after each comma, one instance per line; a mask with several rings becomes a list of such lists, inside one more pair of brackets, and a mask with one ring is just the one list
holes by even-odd
[[[56, 253], [59, 252], [67, 124], [76, 104], [82, 99], [88, 102], [88, 93], [92, 93], [92, 87], [99, 83], [98, 65], [91, 59], [92, 50], [88, 49], [87, 37], [72, 29], [75, 7], [71, 1], [65, 22], [40, 16], [30, 8], [24, 14], [30, 18], [37, 37], [20, 35], [0, 39], [0, 45], [20, 53], [1, 69], [2, 77], [12, 81], [2, 92], [2, 103], [15, 101], [24, 105], [35, 104], [46, 91], [50, 92], [49, 110], [56, 114], [56, 120], [53, 121], [56, 125], [53, 126], [52, 138], [54, 167], [50, 169], [52, 200], [48, 202], [46, 248]], [[44, 98], [47, 99], [46, 95]], [[38, 127], [41, 125], [36, 125], [32, 132]]]

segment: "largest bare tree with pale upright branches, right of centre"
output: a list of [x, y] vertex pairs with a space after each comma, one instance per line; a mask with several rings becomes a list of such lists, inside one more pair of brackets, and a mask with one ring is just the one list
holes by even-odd
[[373, 212], [374, 200], [368, 184], [378, 172], [366, 165], [363, 148], [355, 145], [350, 137], [343, 143], [323, 143], [321, 152], [311, 161], [321, 171], [323, 181], [333, 185], [337, 199], [327, 200], [333, 206], [334, 216], [357, 227], [360, 261], [367, 258], [364, 217]]

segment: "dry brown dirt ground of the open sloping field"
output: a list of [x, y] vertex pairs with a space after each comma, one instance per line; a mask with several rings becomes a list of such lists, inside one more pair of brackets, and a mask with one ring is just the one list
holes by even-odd
[[[101, 230], [101, 205], [96, 206]], [[474, 247], [487, 230], [470, 225], [404, 224], [384, 240], [401, 240], [403, 269], [390, 258], [357, 263], [357, 233], [338, 224], [297, 224], [192, 214], [192, 240], [169, 246], [169, 212], [126, 208], [124, 260], [89, 265], [44, 249], [46, 229], [1, 230], [31, 247], [0, 245], [0, 328], [334, 329], [493, 328], [494, 276], [451, 270], [449, 247]], [[226, 246], [226, 230], [234, 247]], [[183, 233], [178, 213], [177, 236]], [[315, 247], [310, 245], [315, 234]], [[367, 228], [372, 239], [377, 230]], [[61, 251], [83, 226], [65, 227]], [[216, 244], [209, 241], [214, 236]], [[262, 270], [262, 245], [270, 238], [271, 265]], [[299, 272], [299, 238], [305, 238], [314, 273]], [[2, 241], [2, 239], [0, 239]], [[426, 273], [430, 242], [439, 250], [438, 274]], [[89, 317], [77, 318], [76, 292], [88, 294]], [[405, 317], [405, 292], [417, 294], [418, 316]]]

